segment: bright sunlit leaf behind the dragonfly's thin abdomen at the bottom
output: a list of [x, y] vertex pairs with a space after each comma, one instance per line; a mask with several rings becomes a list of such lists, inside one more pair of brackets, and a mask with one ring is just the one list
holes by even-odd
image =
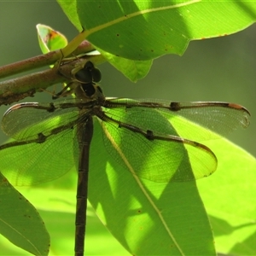
[[[19, 187], [20, 193], [37, 207], [51, 236], [49, 255], [73, 255], [74, 209], [77, 173], [69, 172], [52, 183], [36, 187]], [[67, 182], [73, 183], [72, 189]], [[59, 188], [59, 189], [58, 189]], [[85, 255], [130, 255], [102, 225], [92, 207], [87, 208]], [[27, 255], [0, 237], [1, 255]]]

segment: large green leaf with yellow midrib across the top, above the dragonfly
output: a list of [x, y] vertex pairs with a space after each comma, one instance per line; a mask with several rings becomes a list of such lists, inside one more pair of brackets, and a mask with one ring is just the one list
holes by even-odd
[[84, 27], [90, 43], [132, 60], [183, 55], [190, 40], [224, 36], [251, 25], [256, 11], [253, 1], [230, 0], [59, 3], [79, 30]]

